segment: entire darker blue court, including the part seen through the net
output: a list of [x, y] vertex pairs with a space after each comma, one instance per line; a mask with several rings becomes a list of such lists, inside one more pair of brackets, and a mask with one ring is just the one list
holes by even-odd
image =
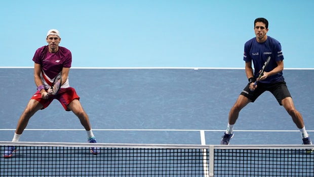
[[[284, 71], [309, 134], [314, 124], [309, 82], [313, 72]], [[240, 113], [230, 143], [240, 149], [219, 145], [229, 109], [247, 83], [244, 69], [76, 68], [71, 69], [69, 79], [89, 114], [98, 141], [94, 146], [101, 147], [101, 154], [92, 155], [86, 144], [67, 147], [68, 143], [86, 143], [86, 132], [73, 113], [54, 101], [30, 119], [20, 139], [37, 144], [22, 146], [13, 158], [1, 159], [3, 175], [207, 177], [308, 176], [314, 172], [313, 154], [291, 149], [301, 147], [300, 132], [270, 93]], [[0, 141], [10, 142], [36, 90], [33, 69], [1, 68], [0, 81]], [[44, 142], [49, 146], [43, 146]], [[272, 150], [272, 145], [284, 149]], [[262, 149], [266, 146], [270, 149]]]

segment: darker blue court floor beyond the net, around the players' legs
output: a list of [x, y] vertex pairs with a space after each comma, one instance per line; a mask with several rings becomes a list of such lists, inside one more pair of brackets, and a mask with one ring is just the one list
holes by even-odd
[[[314, 70], [284, 70], [294, 104], [314, 131]], [[33, 68], [0, 68], [0, 141], [11, 141], [36, 92]], [[217, 145], [228, 113], [247, 84], [244, 69], [79, 69], [69, 74], [99, 143]], [[276, 99], [264, 93], [240, 112], [233, 145], [299, 145], [300, 132]], [[86, 142], [72, 112], [55, 100], [29, 121], [20, 141]]]

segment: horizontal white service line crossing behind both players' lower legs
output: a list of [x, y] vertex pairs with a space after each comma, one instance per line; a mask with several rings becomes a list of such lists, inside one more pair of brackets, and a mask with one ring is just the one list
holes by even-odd
[[[12, 128], [3, 128], [0, 131], [15, 130]], [[26, 128], [31, 131], [85, 131], [85, 129], [43, 129], [43, 128]], [[225, 131], [225, 129], [93, 129], [93, 131]], [[251, 132], [299, 132], [299, 130], [233, 130], [233, 131], [251, 131]], [[314, 130], [306, 130], [314, 131]]]

